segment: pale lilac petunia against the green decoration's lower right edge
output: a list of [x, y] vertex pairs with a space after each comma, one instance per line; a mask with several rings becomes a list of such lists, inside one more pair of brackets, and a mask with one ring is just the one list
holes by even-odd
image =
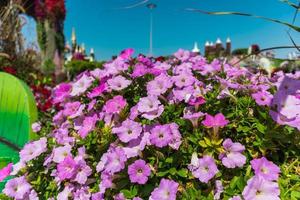
[[20, 158], [23, 162], [28, 162], [37, 158], [39, 155], [47, 151], [47, 139], [45, 137], [28, 143], [20, 151]]

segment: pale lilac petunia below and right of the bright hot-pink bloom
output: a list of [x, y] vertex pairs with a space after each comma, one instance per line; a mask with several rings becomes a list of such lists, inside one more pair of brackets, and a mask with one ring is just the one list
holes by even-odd
[[238, 143], [232, 142], [231, 139], [226, 139], [223, 142], [225, 152], [219, 155], [219, 159], [227, 168], [242, 167], [246, 163], [246, 157], [242, 154], [245, 147]]

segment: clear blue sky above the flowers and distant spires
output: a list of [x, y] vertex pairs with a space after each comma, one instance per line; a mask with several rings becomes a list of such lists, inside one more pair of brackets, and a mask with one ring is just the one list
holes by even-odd
[[[141, 0], [67, 0], [66, 39], [70, 41], [72, 27], [77, 40], [93, 47], [99, 60], [110, 58], [131, 47], [138, 53], [148, 53], [149, 10], [145, 6], [116, 9]], [[262, 48], [290, 45], [282, 25], [240, 16], [211, 16], [185, 11], [198, 8], [207, 11], [241, 11], [291, 22], [294, 10], [279, 0], [152, 0], [154, 11], [154, 55], [168, 55], [178, 48], [191, 49], [198, 42], [229, 36], [233, 48], [259, 44]], [[300, 14], [299, 14], [300, 17]], [[296, 21], [298, 23], [299, 20]], [[300, 41], [300, 34], [293, 33]], [[280, 51], [285, 57], [287, 51]]]

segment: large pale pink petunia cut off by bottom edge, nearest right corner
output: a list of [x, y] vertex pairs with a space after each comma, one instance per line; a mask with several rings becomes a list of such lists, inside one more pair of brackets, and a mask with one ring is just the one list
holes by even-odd
[[247, 181], [243, 197], [245, 200], [280, 200], [278, 183], [254, 176]]

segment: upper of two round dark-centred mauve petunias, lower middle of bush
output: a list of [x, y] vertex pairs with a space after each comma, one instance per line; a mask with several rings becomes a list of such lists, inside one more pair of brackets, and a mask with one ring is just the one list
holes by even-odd
[[150, 142], [157, 147], [168, 146], [172, 140], [172, 133], [168, 125], [156, 125], [150, 132]]

